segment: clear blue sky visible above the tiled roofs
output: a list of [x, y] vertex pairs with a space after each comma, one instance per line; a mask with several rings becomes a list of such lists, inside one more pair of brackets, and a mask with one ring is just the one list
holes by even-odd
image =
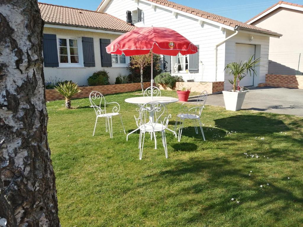
[[[89, 9], [89, 10], [96, 10], [98, 5], [100, 4], [101, 0], [39, 0], [39, 2], [46, 2], [54, 5], [65, 5], [74, 8], [82, 8], [82, 9]], [[236, 1], [236, 0], [229, 0], [229, 1], [222, 1], [222, 0], [212, 0], [212, 1], [205, 1], [205, 0], [173, 0], [173, 2], [177, 2], [182, 5], [187, 5], [193, 8], [198, 8], [201, 10], [205, 10], [207, 12], [215, 13], [221, 16], [225, 16], [231, 19], [235, 19], [238, 21], [247, 21], [248, 19], [254, 17], [258, 13], [262, 12], [266, 8], [274, 5], [278, 2], [275, 1]], [[303, 0], [298, 1], [291, 1], [292, 3], [303, 4]]]

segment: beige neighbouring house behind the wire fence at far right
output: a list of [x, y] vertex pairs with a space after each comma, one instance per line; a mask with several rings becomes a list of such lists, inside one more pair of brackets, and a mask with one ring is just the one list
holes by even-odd
[[283, 1], [246, 21], [283, 34], [280, 39], [270, 38], [268, 73], [303, 74], [302, 22], [303, 5]]

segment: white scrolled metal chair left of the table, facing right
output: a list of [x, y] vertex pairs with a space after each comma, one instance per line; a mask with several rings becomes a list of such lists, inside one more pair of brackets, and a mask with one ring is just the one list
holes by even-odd
[[[117, 116], [117, 115], [120, 116], [123, 131], [125, 133], [122, 117], [121, 117], [121, 114], [119, 114], [120, 105], [117, 102], [110, 102], [110, 103], [106, 102], [104, 96], [98, 91], [92, 91], [89, 94], [89, 101], [91, 102], [91, 107], [94, 107], [94, 110], [96, 113], [96, 123], [95, 123], [93, 136], [95, 135], [98, 117], [105, 117], [106, 132], [109, 131], [109, 136], [112, 139], [112, 137], [113, 137], [112, 117]], [[111, 105], [111, 108], [112, 108], [111, 112], [106, 111], [106, 105], [108, 105], [108, 104], [113, 104], [113, 105]], [[109, 120], [110, 120], [110, 123], [109, 123]]]

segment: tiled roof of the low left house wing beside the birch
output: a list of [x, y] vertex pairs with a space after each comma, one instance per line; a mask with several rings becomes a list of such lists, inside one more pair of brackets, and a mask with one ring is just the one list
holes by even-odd
[[45, 23], [83, 26], [114, 31], [132, 31], [135, 26], [112, 15], [85, 9], [38, 2]]

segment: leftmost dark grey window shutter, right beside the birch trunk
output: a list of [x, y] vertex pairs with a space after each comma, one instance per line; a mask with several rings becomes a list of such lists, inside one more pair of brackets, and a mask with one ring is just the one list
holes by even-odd
[[44, 67], [59, 67], [57, 36], [43, 34]]

